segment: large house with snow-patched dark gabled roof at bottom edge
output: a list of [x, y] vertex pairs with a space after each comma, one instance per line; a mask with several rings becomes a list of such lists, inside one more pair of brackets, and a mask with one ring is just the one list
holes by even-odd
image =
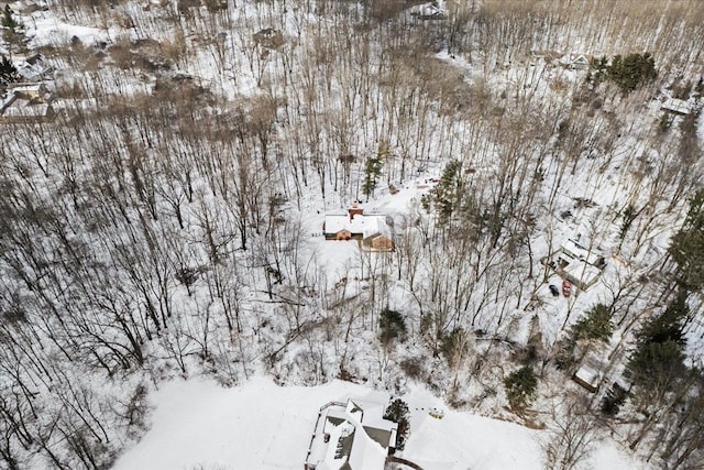
[[320, 408], [304, 470], [383, 470], [398, 424], [384, 419], [388, 395], [375, 393]]

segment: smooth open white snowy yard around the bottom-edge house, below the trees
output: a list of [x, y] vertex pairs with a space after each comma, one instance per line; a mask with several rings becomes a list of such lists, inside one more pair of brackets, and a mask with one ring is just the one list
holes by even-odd
[[[334, 380], [315, 387], [280, 387], [267, 378], [223, 389], [212, 381], [172, 381], [151, 397], [152, 428], [114, 470], [300, 469], [320, 406], [369, 389]], [[404, 458], [426, 470], [541, 469], [540, 431], [451, 412], [416, 386], [405, 396], [411, 435]], [[428, 409], [444, 411], [437, 419]], [[612, 444], [581, 468], [636, 469]]]

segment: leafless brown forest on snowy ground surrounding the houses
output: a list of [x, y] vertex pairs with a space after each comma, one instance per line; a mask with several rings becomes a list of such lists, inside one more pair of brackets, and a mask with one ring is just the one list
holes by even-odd
[[[257, 370], [425, 382], [541, 422], [550, 468], [597, 436], [701, 468], [704, 4], [447, 0], [424, 21], [407, 3], [46, 3], [106, 41], [30, 41], [57, 64], [56, 118], [0, 122], [0, 468], [109, 468], [150, 390]], [[568, 79], [571, 52], [648, 52], [657, 76]], [[672, 125], [663, 90], [693, 103]], [[395, 251], [329, 278], [311, 217], [428, 176]], [[625, 260], [601, 284], [606, 336], [575, 327], [579, 297], [554, 328], [541, 314], [568, 217]], [[588, 394], [571, 374], [609, 341], [628, 390]], [[507, 401], [524, 367], [537, 390]]]

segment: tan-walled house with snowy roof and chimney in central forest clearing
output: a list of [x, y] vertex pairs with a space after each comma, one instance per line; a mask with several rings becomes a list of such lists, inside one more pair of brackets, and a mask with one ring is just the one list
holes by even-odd
[[326, 240], [358, 240], [363, 250], [391, 251], [394, 249], [392, 231], [383, 214], [364, 214], [354, 203], [345, 212], [326, 215], [322, 225]]

